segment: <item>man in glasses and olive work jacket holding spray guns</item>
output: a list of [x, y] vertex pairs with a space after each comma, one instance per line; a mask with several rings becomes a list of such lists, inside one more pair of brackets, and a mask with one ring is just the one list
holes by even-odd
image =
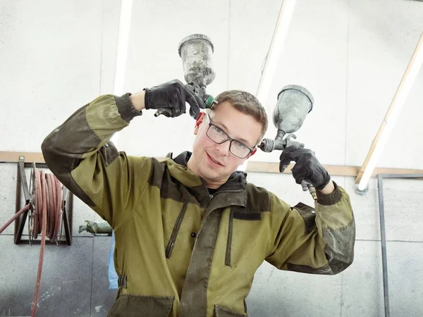
[[[355, 224], [348, 194], [312, 151], [290, 147], [298, 183], [318, 189], [316, 209], [289, 206], [236, 172], [267, 128], [247, 92], [216, 97], [213, 110], [178, 80], [138, 94], [104, 95], [44, 140], [51, 171], [108, 221], [116, 235], [119, 290], [109, 316], [247, 316], [264, 260], [281, 270], [337, 274], [353, 262]], [[157, 161], [118, 152], [109, 139], [142, 111], [196, 118], [191, 152]], [[171, 120], [171, 119], [169, 119]]]

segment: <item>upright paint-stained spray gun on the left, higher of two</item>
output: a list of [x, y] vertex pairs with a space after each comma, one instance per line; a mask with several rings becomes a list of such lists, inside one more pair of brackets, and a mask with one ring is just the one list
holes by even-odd
[[[212, 65], [214, 53], [212, 40], [202, 34], [188, 35], [180, 41], [178, 52], [185, 72], [187, 82], [185, 87], [200, 97], [206, 108], [212, 108], [217, 102], [206, 92], [207, 85], [210, 85], [216, 77]], [[159, 108], [154, 116], [160, 116], [163, 112], [164, 110]]]

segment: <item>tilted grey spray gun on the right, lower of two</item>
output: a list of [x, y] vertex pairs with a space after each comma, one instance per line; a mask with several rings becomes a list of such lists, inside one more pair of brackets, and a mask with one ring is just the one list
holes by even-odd
[[[273, 113], [273, 123], [278, 132], [275, 139], [263, 139], [262, 143], [259, 144], [259, 148], [264, 152], [271, 152], [274, 150], [283, 151], [291, 145], [304, 147], [304, 144], [293, 140], [297, 138], [293, 132], [301, 128], [307, 113], [312, 111], [313, 104], [312, 94], [304, 87], [298, 85], [283, 87], [278, 94], [278, 102]], [[287, 133], [289, 134], [286, 135]], [[281, 172], [287, 167], [282, 166]], [[301, 186], [303, 191], [308, 189], [313, 199], [317, 200], [316, 189], [310, 182], [302, 180]]]

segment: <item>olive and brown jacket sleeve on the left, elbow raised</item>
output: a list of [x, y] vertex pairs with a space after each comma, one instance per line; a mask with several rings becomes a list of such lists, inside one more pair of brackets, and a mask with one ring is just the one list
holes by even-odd
[[141, 115], [129, 97], [94, 99], [42, 142], [51, 172], [115, 230], [130, 217], [152, 166], [150, 159], [126, 156], [110, 142], [115, 132]]

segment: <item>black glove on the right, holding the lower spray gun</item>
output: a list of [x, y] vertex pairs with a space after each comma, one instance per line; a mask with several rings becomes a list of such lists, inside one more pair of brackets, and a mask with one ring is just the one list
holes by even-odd
[[279, 171], [283, 172], [291, 161], [295, 161], [293, 177], [297, 184], [302, 180], [308, 180], [317, 189], [323, 189], [331, 181], [329, 173], [321, 166], [314, 152], [304, 149], [299, 145], [291, 145], [282, 151], [279, 162]]

